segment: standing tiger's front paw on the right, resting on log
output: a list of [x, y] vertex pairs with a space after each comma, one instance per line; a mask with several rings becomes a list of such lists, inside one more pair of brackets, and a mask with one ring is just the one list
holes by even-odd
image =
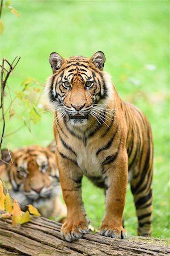
[[101, 224], [100, 235], [105, 237], [124, 239], [127, 237], [127, 232], [124, 228], [122, 228], [122, 226]]

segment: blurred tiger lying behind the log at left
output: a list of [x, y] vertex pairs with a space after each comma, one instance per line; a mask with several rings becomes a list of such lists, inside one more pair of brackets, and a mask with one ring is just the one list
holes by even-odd
[[63, 222], [66, 207], [61, 200], [53, 148], [54, 143], [48, 147], [28, 146], [14, 151], [3, 149], [0, 177], [23, 211], [28, 209], [28, 204], [32, 204], [41, 216]]

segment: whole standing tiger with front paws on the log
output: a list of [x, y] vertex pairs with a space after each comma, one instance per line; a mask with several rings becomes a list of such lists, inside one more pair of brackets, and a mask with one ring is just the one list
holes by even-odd
[[103, 71], [103, 52], [68, 59], [53, 52], [49, 62], [53, 75], [46, 82], [46, 93], [56, 110], [56, 159], [67, 206], [62, 238], [71, 242], [88, 232], [83, 175], [105, 191], [100, 234], [126, 238], [122, 218], [128, 171], [138, 235], [151, 236], [153, 143], [147, 118], [118, 96]]

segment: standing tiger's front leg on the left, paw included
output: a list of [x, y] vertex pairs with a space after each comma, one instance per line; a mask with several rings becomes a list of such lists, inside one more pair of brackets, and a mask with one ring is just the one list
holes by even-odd
[[59, 154], [57, 162], [63, 199], [67, 207], [67, 217], [61, 227], [61, 236], [71, 242], [88, 232], [89, 221], [82, 201], [82, 175], [75, 163]]

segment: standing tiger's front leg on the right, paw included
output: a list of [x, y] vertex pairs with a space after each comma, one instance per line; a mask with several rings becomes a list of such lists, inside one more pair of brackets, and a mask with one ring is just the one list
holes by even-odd
[[126, 150], [119, 152], [116, 159], [104, 163], [105, 185], [105, 216], [100, 226], [100, 234], [107, 237], [126, 238], [126, 230], [122, 227], [125, 206], [126, 188], [128, 183], [128, 156]]

